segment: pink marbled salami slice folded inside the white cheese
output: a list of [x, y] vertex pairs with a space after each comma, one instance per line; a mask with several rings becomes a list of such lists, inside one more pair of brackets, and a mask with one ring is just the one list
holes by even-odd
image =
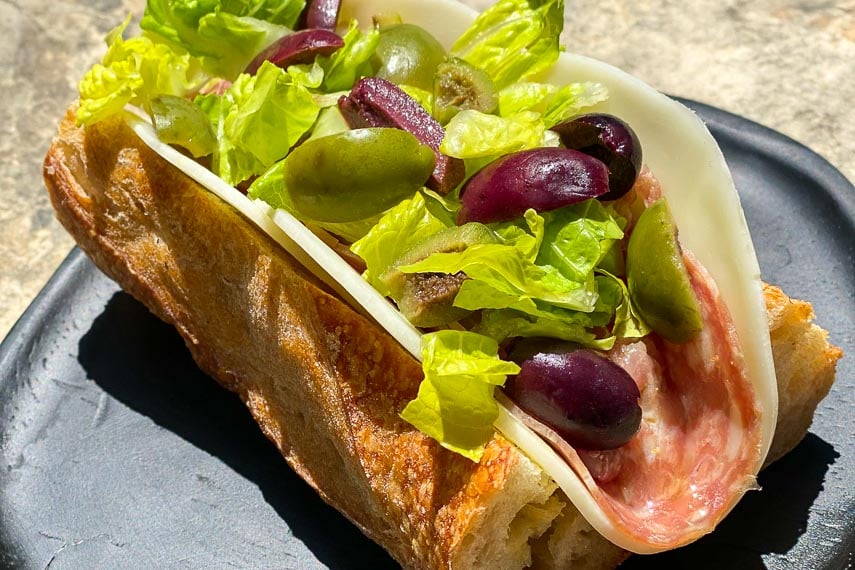
[[628, 444], [577, 451], [512, 410], [568, 461], [615, 526], [663, 549], [711, 532], [756, 488], [760, 455], [761, 410], [736, 331], [712, 278], [683, 257], [703, 330], [682, 345], [651, 337], [609, 353], [641, 392], [641, 428]]

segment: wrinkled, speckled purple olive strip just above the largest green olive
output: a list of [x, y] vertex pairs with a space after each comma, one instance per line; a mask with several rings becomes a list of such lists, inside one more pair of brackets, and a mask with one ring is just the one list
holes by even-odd
[[431, 147], [436, 156], [436, 166], [427, 181], [429, 188], [448, 194], [463, 181], [463, 161], [439, 152], [439, 145], [445, 137], [442, 125], [394, 83], [379, 77], [363, 77], [353, 86], [350, 95], [339, 99], [338, 107], [353, 129], [401, 129]]

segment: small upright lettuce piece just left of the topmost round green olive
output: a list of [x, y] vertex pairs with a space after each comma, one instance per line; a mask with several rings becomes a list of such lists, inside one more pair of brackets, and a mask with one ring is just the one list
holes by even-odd
[[353, 87], [360, 77], [371, 75], [371, 56], [380, 40], [380, 30], [373, 28], [367, 32], [359, 29], [359, 23], [351, 20], [347, 33], [342, 38], [344, 47], [328, 57], [319, 57], [318, 63], [324, 68], [325, 91], [346, 91]]

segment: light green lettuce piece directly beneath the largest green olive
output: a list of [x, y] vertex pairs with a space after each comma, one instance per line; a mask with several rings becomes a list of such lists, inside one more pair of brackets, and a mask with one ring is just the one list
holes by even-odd
[[417, 193], [386, 212], [350, 250], [365, 261], [365, 279], [388, 296], [388, 287], [380, 281], [383, 272], [406, 251], [446, 227], [430, 212], [421, 193]]

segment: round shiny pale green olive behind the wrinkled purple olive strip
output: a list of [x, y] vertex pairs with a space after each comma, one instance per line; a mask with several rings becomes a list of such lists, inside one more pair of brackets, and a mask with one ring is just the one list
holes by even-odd
[[380, 30], [374, 58], [377, 77], [431, 91], [433, 75], [445, 59], [445, 49], [424, 28], [397, 24]]

